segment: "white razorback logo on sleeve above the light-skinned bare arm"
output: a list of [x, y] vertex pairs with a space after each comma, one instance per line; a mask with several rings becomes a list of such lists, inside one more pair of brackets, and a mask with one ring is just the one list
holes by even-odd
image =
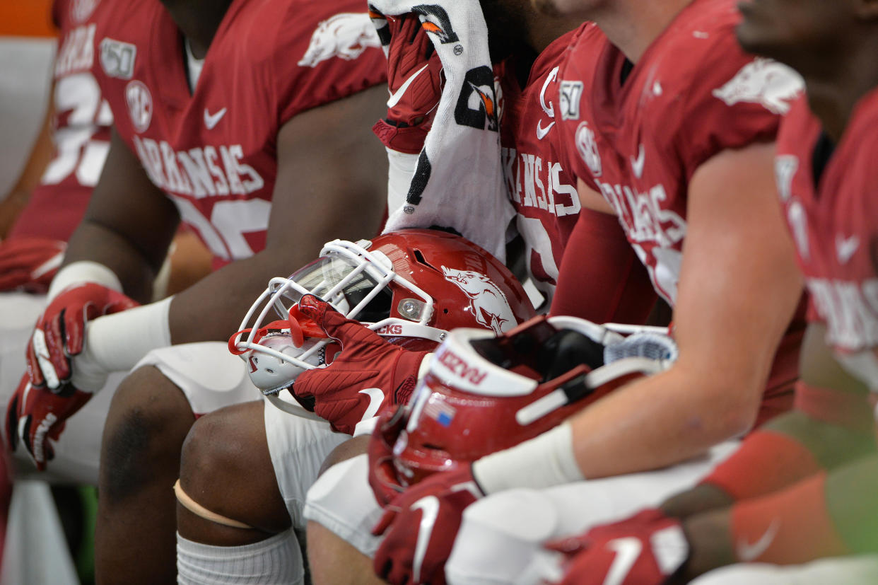
[[713, 90], [726, 105], [761, 104], [775, 114], [789, 112], [789, 102], [804, 88], [802, 77], [786, 65], [758, 58], [747, 63], [729, 83]]

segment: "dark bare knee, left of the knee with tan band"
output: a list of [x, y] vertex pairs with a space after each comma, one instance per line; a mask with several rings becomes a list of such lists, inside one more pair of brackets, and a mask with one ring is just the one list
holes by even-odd
[[107, 415], [101, 449], [105, 501], [118, 502], [176, 475], [180, 446], [193, 420], [184, 394], [154, 367], [123, 380]]

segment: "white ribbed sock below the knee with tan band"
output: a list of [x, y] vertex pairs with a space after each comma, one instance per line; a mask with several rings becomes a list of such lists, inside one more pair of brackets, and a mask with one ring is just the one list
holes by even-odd
[[176, 534], [176, 582], [180, 585], [269, 585], [305, 581], [305, 564], [292, 529], [243, 546], [213, 546]]

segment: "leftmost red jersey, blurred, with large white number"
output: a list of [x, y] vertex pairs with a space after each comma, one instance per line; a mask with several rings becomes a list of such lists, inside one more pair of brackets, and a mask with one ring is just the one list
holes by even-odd
[[110, 148], [112, 112], [91, 68], [97, 57], [90, 21], [99, 0], [57, 0], [60, 30], [54, 61], [54, 156], [40, 185], [18, 215], [10, 237], [39, 236], [67, 241], [83, 219]]

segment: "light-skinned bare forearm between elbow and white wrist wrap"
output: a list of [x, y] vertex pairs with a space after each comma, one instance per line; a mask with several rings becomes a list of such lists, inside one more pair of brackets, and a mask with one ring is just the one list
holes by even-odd
[[674, 365], [610, 394], [572, 418], [573, 451], [587, 479], [673, 465], [749, 428], [761, 388], [704, 379]]

